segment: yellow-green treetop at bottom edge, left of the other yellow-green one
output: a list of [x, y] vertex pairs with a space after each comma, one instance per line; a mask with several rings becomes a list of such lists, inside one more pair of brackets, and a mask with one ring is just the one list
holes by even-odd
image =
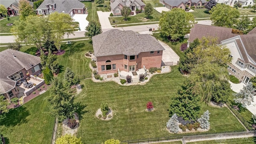
[[82, 140], [81, 138], [76, 138], [76, 136], [66, 134], [65, 136], [57, 138], [55, 144], [82, 144]]

